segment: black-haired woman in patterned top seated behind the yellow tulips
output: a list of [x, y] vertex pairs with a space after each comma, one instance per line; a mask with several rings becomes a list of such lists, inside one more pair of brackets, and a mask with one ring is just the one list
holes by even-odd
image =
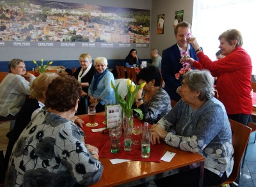
[[150, 124], [157, 123], [171, 110], [171, 100], [168, 93], [161, 88], [161, 73], [155, 66], [143, 68], [139, 73], [140, 82], [146, 82], [135, 96], [134, 108], [143, 112], [143, 121]]

